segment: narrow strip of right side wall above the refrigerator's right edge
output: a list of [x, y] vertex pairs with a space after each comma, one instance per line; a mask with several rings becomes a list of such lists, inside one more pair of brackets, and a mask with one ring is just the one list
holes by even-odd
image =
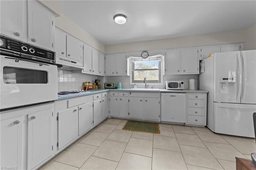
[[246, 28], [244, 30], [245, 41], [244, 41], [244, 49], [256, 49], [256, 24]]

